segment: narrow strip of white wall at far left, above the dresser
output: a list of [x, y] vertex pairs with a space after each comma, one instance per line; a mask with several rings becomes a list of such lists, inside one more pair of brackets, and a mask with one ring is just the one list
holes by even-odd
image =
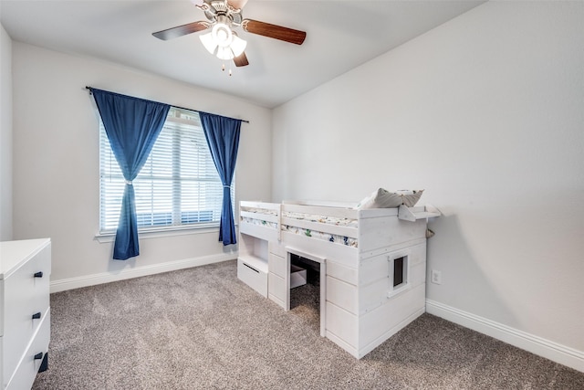
[[12, 39], [0, 25], [0, 241], [12, 239]]

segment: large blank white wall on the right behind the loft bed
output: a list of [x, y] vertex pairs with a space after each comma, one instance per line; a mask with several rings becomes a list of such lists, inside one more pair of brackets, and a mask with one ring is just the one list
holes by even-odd
[[488, 2], [276, 108], [274, 200], [425, 189], [428, 300], [584, 371], [583, 20]]

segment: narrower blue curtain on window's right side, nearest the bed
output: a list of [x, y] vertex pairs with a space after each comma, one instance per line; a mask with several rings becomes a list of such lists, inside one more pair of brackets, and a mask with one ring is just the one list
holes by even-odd
[[223, 183], [223, 206], [219, 225], [219, 241], [223, 245], [235, 244], [234, 210], [231, 206], [231, 183], [234, 178], [235, 160], [239, 147], [241, 120], [200, 112], [204, 136], [211, 149], [211, 155], [221, 182]]

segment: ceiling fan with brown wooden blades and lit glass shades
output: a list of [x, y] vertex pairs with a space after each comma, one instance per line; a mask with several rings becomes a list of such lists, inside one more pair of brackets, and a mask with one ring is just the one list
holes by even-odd
[[253, 19], [244, 19], [242, 9], [247, 0], [192, 0], [192, 2], [203, 10], [207, 20], [167, 28], [152, 33], [152, 35], [162, 40], [168, 40], [203, 30], [211, 30], [209, 33], [199, 36], [203, 46], [218, 58], [233, 59], [236, 67], [245, 67], [249, 65], [249, 61], [245, 57], [244, 51], [246, 42], [237, 36], [233, 31], [234, 27], [242, 27], [248, 33], [297, 45], [302, 45], [307, 37], [307, 33], [304, 31]]

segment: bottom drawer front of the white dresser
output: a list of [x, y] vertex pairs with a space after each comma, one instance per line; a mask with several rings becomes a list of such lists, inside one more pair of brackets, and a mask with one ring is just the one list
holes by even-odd
[[41, 356], [45, 356], [48, 352], [50, 339], [50, 312], [47, 311], [43, 314], [47, 315], [39, 322], [34, 339], [28, 346], [26, 353], [21, 355], [20, 364], [6, 390], [29, 389], [35, 382], [36, 373], [38, 373], [40, 364], [43, 362], [43, 359], [36, 359], [35, 356], [38, 356], [39, 353], [41, 353]]

